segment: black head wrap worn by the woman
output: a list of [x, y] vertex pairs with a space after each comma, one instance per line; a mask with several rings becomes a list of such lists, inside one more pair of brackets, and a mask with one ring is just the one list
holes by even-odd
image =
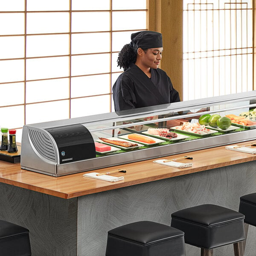
[[133, 33], [131, 34], [130, 46], [134, 49], [163, 47], [162, 34], [149, 30]]

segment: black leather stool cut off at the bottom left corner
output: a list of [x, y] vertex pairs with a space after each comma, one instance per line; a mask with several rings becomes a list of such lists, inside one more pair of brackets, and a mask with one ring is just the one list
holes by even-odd
[[0, 220], [0, 256], [31, 256], [29, 230]]

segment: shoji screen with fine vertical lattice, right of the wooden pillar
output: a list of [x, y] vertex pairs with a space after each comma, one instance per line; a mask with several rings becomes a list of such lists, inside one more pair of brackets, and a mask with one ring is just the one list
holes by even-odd
[[251, 0], [183, 1], [183, 99], [253, 90]]

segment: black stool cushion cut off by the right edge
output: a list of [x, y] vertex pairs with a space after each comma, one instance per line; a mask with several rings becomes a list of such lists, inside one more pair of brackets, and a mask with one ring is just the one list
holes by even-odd
[[245, 215], [245, 223], [256, 226], [256, 193], [241, 196], [239, 212]]

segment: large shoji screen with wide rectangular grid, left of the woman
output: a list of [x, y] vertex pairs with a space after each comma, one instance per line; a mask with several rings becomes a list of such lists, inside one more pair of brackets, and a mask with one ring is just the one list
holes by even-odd
[[116, 58], [146, 0], [0, 0], [0, 126], [112, 111]]

